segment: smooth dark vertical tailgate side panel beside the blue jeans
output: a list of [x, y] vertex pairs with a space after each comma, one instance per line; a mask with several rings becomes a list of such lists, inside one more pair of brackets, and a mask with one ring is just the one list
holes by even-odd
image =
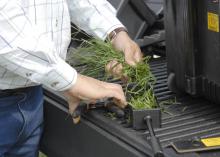
[[46, 102], [41, 150], [48, 157], [150, 157], [85, 119], [74, 125], [65, 107]]

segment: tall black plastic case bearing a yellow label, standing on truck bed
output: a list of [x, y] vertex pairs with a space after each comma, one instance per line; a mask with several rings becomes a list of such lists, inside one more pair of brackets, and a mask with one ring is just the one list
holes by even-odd
[[[171, 89], [220, 102], [220, 36], [208, 29], [208, 12], [219, 1], [165, 0], [168, 74]], [[219, 22], [219, 19], [217, 20]]]

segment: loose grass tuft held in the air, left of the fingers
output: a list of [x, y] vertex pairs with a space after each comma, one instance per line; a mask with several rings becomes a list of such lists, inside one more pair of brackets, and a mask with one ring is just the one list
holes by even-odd
[[103, 75], [105, 65], [113, 59], [119, 63], [124, 62], [123, 54], [113, 49], [110, 42], [99, 39], [82, 41], [80, 47], [73, 53], [74, 60], [77, 59], [81, 64], [85, 64], [82, 74], [97, 77]]

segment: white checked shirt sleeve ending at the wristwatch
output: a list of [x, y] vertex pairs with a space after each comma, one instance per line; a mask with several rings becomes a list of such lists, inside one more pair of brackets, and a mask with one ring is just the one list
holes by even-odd
[[115, 8], [106, 0], [67, 0], [71, 21], [90, 35], [105, 40], [118, 27]]

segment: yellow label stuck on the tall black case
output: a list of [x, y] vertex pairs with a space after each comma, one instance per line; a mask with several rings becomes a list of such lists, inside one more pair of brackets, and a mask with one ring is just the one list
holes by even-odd
[[208, 29], [214, 32], [219, 32], [218, 14], [208, 12]]

